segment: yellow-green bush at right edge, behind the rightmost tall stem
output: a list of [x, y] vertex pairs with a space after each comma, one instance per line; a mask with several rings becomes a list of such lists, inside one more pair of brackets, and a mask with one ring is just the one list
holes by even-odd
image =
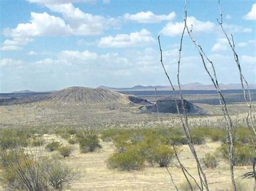
[[[227, 144], [221, 145], [219, 148], [221, 155], [228, 159]], [[245, 166], [252, 165], [254, 160], [254, 148], [252, 145], [234, 145], [234, 165]]]

